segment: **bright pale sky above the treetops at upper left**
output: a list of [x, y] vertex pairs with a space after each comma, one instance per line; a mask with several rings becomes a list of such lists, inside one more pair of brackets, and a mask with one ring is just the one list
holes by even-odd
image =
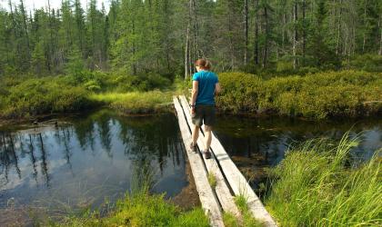
[[[0, 0], [0, 7], [9, 9], [8, 6], [8, 1], [9, 0]], [[34, 6], [35, 8], [42, 8], [42, 7], [47, 7], [47, 0], [24, 0], [24, 5], [27, 9], [33, 10]], [[59, 8], [61, 5], [62, 0], [50, 0], [50, 7], [51, 8]], [[81, 0], [81, 6], [85, 9], [86, 7], [86, 2], [89, 2], [88, 0]], [[109, 5], [109, 0], [97, 0], [97, 7], [101, 9], [102, 3], [104, 3], [106, 11], [108, 10], [108, 5]], [[12, 0], [12, 3], [19, 5], [20, 0]]]

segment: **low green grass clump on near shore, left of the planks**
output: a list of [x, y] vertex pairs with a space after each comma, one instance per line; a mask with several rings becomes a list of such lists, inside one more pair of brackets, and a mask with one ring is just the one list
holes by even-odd
[[96, 213], [90, 217], [67, 218], [55, 226], [185, 226], [207, 227], [208, 218], [201, 208], [183, 212], [179, 207], [166, 202], [164, 195], [149, 195], [139, 192], [116, 203], [115, 212], [104, 218]]

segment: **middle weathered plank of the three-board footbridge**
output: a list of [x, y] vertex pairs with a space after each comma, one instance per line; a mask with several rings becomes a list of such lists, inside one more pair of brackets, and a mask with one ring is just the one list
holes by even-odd
[[[194, 127], [194, 124], [192, 123], [192, 120], [191, 120], [191, 115], [190, 115], [191, 110], [189, 105], [187, 104], [186, 97], [182, 95], [182, 96], [179, 96], [179, 98], [186, 114], [187, 123], [188, 125], [190, 125], [190, 128], [192, 130], [192, 128]], [[203, 133], [199, 132], [197, 145], [200, 150], [206, 149], [204, 139], [205, 139], [205, 136], [203, 135]], [[206, 163], [206, 169], [208, 173], [212, 173], [216, 177], [215, 192], [216, 192], [217, 199], [222, 205], [223, 210], [225, 212], [230, 212], [234, 214], [237, 218], [241, 219], [241, 213], [237, 209], [235, 201], [234, 201], [234, 197], [232, 196], [228, 186], [226, 185], [224, 176], [221, 173], [220, 168], [216, 162], [215, 155], [212, 155], [211, 159], [206, 159], [203, 155], [203, 159]]]

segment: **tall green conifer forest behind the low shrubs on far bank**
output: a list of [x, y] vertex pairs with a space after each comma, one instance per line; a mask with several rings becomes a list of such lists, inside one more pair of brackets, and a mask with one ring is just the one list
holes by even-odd
[[96, 0], [0, 10], [0, 74], [381, 70], [377, 0]]

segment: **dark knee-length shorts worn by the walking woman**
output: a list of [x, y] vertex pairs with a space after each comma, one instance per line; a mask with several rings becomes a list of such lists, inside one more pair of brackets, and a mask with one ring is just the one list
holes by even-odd
[[192, 123], [197, 126], [202, 126], [203, 123], [208, 126], [214, 126], [215, 112], [215, 105], [198, 104], [195, 107], [195, 114], [192, 115]]

